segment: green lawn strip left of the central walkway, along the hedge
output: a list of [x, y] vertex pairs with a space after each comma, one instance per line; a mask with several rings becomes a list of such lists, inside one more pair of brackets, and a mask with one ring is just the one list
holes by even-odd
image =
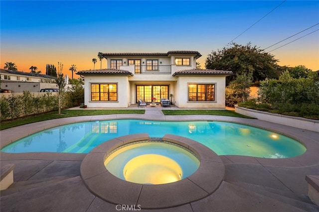
[[14, 126], [20, 126], [23, 124], [34, 123], [38, 121], [50, 120], [55, 118], [65, 118], [72, 116], [82, 115], [107, 115], [107, 114], [121, 114], [121, 113], [135, 113], [144, 114], [144, 109], [75, 109], [75, 110], [62, 110], [62, 114], [59, 115], [58, 111], [45, 112], [37, 115], [29, 115], [25, 117], [15, 118], [13, 120], [1, 121], [0, 130], [7, 129]]

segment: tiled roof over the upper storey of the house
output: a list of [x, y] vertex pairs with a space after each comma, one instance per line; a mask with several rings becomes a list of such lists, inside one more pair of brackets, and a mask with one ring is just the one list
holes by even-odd
[[136, 57], [167, 57], [169, 54], [194, 54], [195, 58], [199, 58], [201, 57], [201, 54], [197, 51], [180, 51], [180, 50], [176, 50], [176, 51], [168, 51], [167, 53], [159, 53], [159, 52], [155, 52], [155, 53], [137, 53], [137, 52], [124, 52], [124, 53], [103, 53], [103, 57], [107, 58], [109, 56], [136, 56]]

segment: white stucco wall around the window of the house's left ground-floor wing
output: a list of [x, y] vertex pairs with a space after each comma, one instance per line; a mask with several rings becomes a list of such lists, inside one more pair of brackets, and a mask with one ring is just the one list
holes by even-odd
[[[91, 101], [92, 83], [117, 83], [118, 101]], [[129, 80], [126, 76], [85, 76], [84, 104], [88, 107], [128, 107], [130, 103]]]

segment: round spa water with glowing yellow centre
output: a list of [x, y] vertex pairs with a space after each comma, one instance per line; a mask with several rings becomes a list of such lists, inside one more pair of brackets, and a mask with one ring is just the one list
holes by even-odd
[[104, 165], [122, 180], [156, 185], [192, 175], [199, 167], [199, 160], [193, 152], [178, 144], [139, 141], [112, 151]]

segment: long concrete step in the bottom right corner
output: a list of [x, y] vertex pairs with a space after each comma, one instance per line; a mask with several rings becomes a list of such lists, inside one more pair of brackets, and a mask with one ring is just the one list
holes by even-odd
[[319, 206], [316, 206], [314, 203], [312, 203], [309, 197], [305, 195], [298, 195], [294, 194], [293, 192], [264, 187], [256, 184], [233, 181], [227, 182], [241, 187], [243, 189], [246, 189], [248, 191], [255, 192], [257, 194], [280, 201], [282, 203], [294, 206], [305, 211], [319, 212]]

